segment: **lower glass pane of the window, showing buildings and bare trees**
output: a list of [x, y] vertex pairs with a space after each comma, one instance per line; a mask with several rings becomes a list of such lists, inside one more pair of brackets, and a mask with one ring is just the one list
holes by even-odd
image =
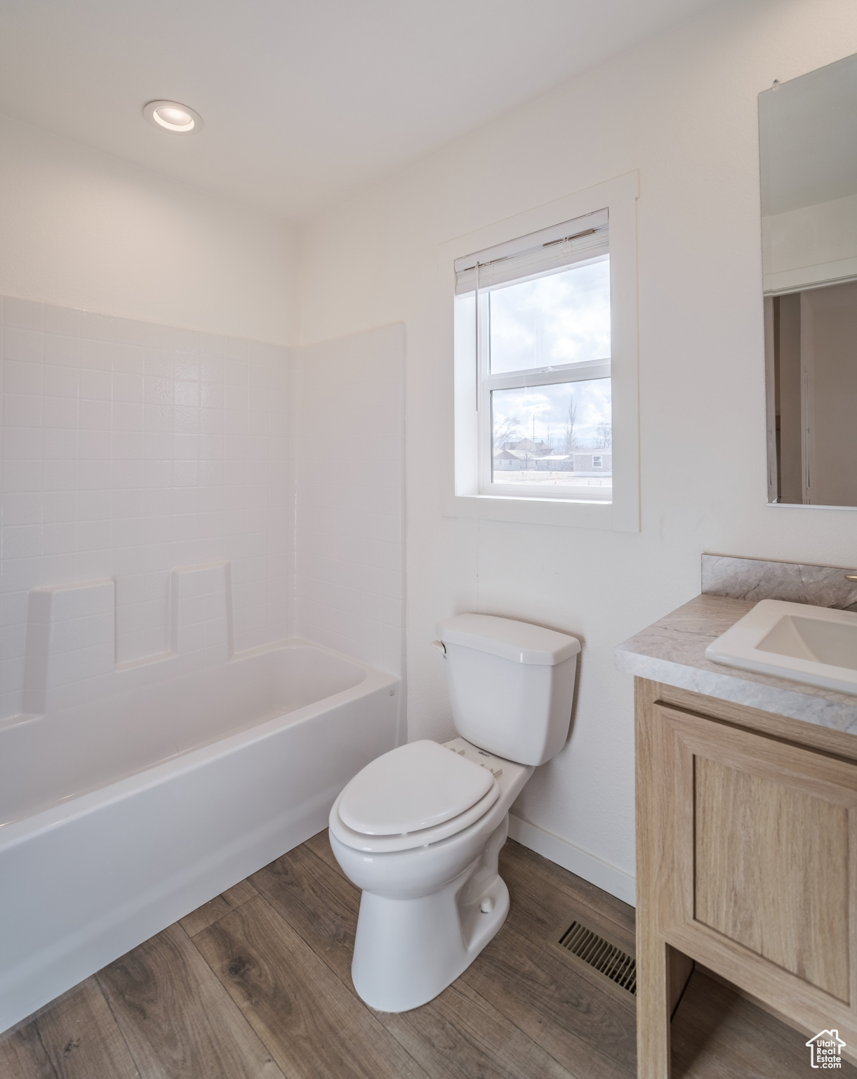
[[612, 487], [610, 379], [490, 395], [493, 483]]

